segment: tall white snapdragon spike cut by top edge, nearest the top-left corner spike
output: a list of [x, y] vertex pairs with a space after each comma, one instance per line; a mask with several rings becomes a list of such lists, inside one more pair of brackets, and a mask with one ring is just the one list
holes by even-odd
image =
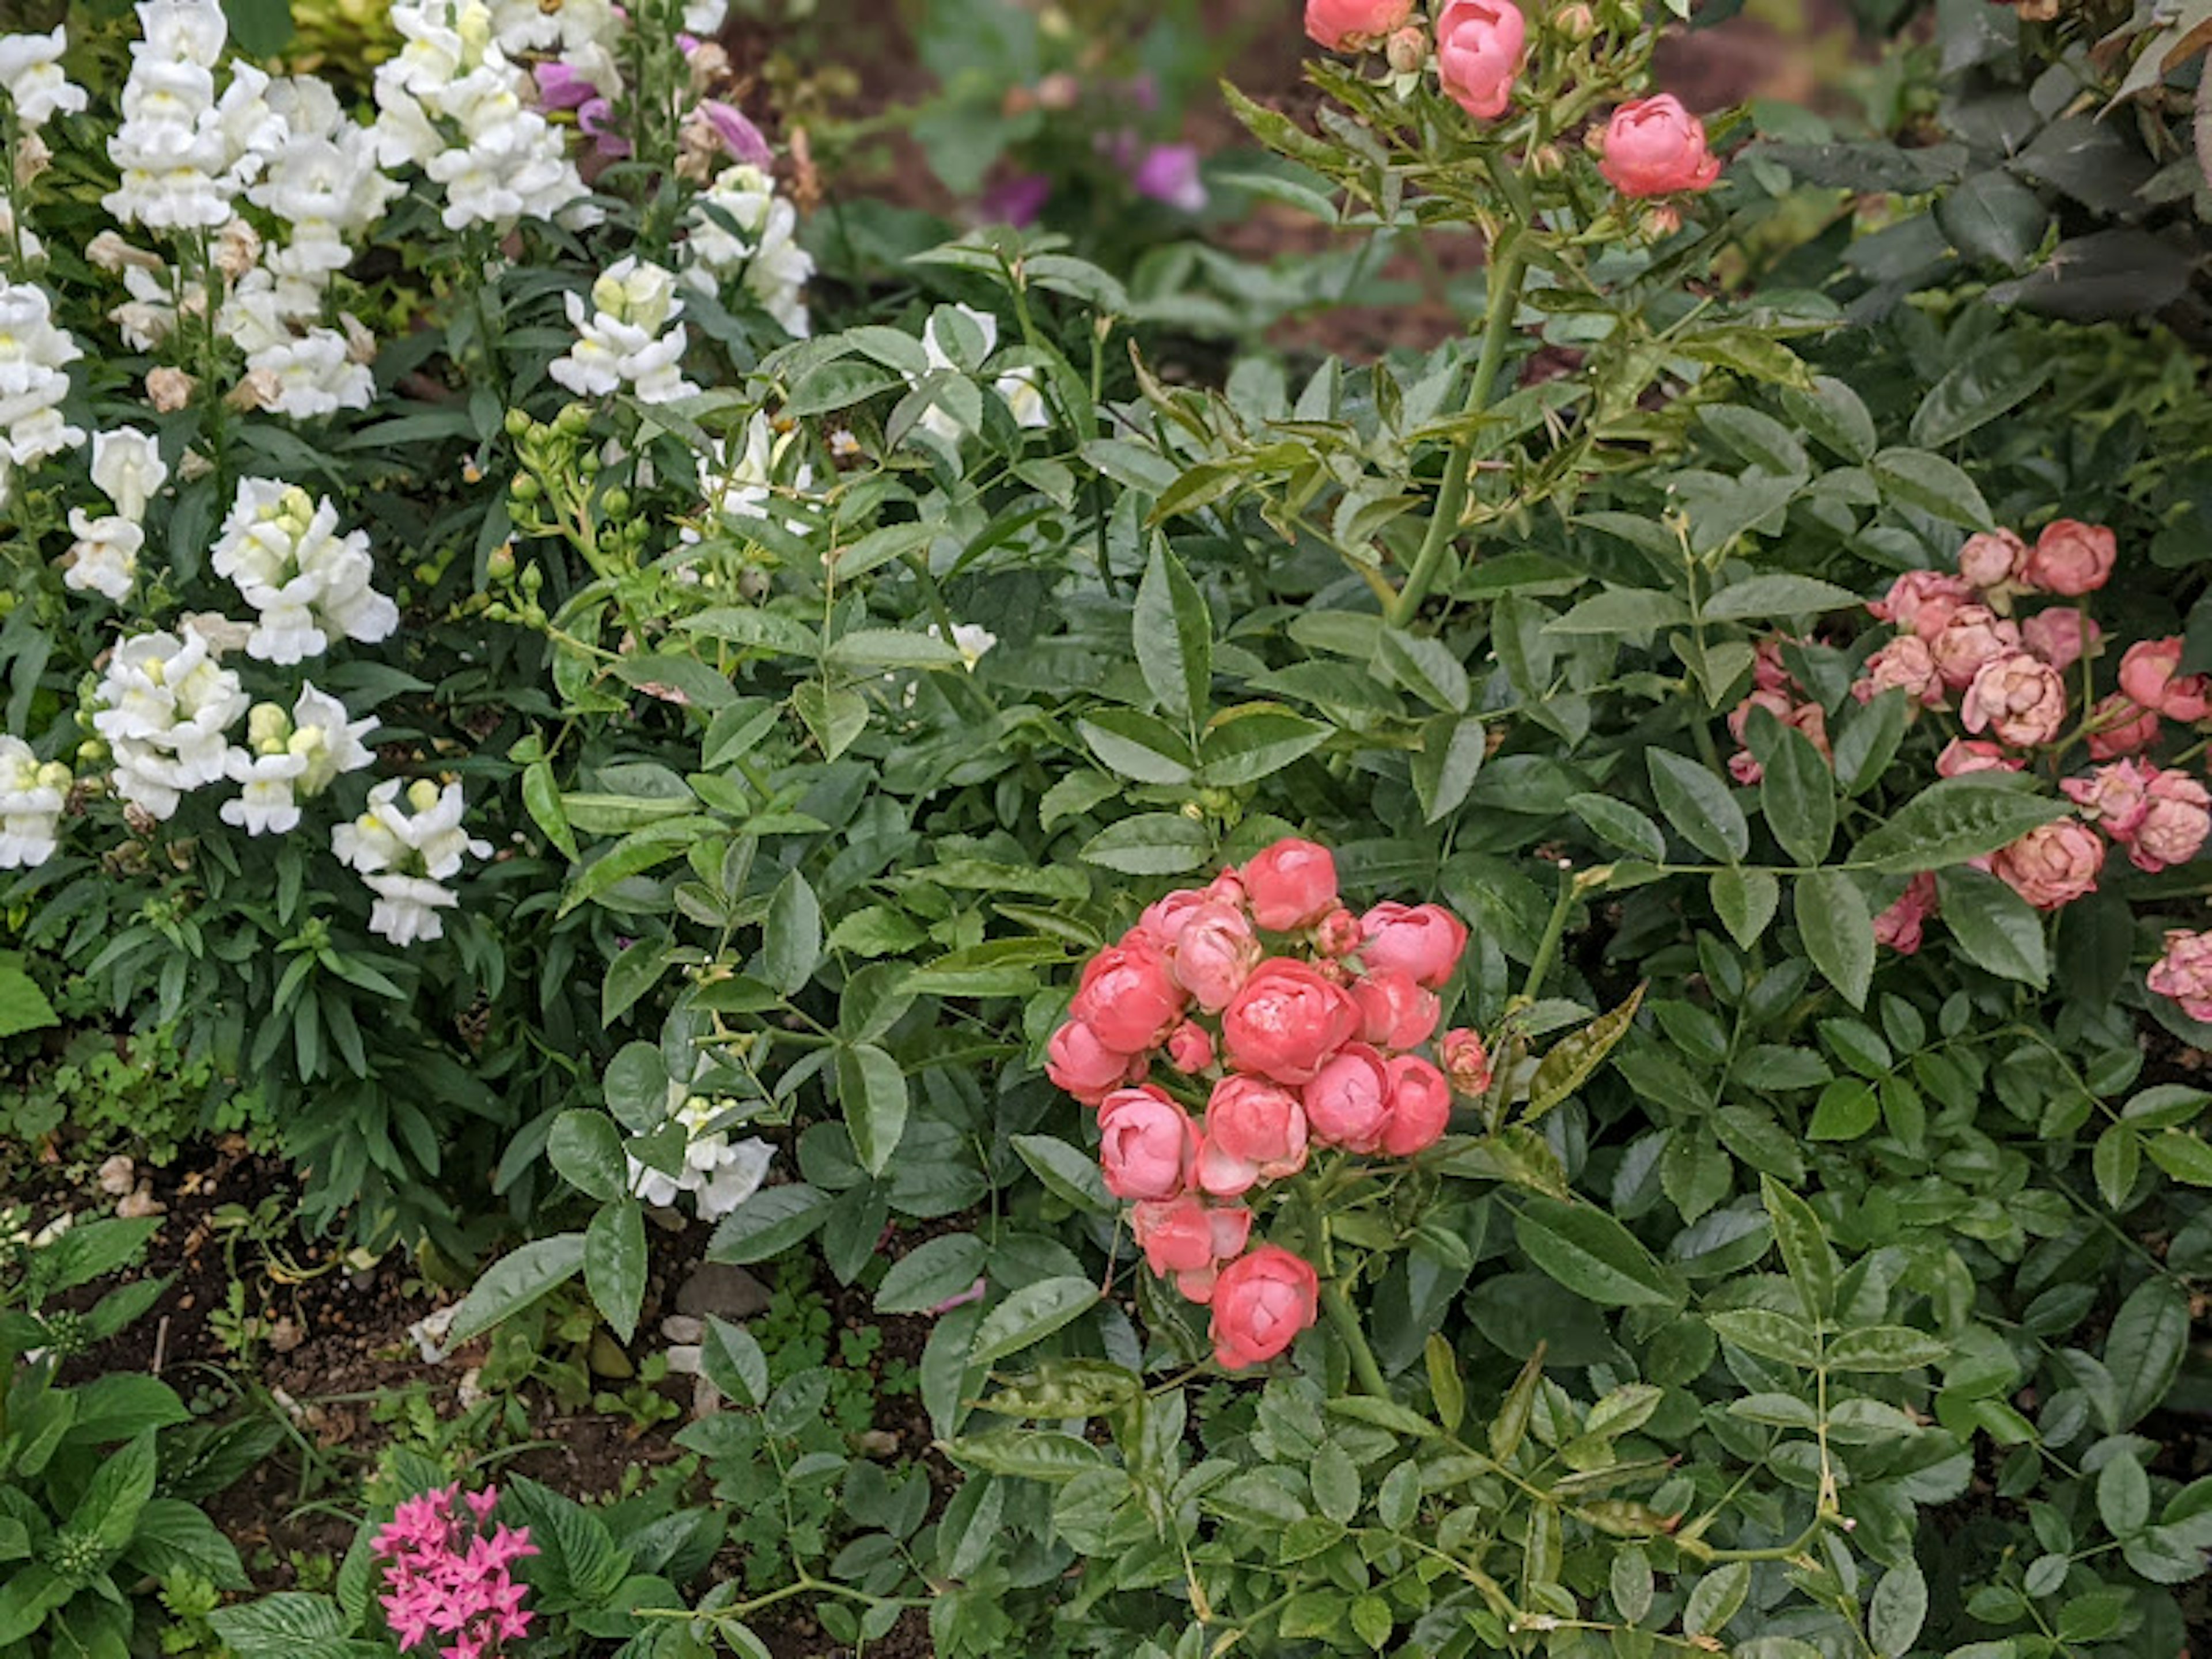
[[230, 35], [219, 0], [142, 0], [137, 15], [124, 119], [108, 139], [119, 179], [102, 206], [150, 230], [215, 230], [283, 137], [270, 77], [234, 64], [217, 93]]

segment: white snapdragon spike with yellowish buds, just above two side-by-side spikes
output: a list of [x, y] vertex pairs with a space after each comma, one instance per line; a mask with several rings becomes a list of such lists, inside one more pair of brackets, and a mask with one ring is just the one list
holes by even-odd
[[330, 635], [374, 646], [400, 626], [400, 608], [369, 586], [376, 564], [367, 533], [341, 538], [327, 495], [241, 478], [208, 562], [259, 613], [248, 657], [296, 664], [321, 655]]

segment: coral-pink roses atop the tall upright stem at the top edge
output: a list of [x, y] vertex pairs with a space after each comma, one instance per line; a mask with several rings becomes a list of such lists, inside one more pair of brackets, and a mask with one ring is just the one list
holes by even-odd
[[[1590, 13], [1562, 7], [1553, 27], [1586, 38]], [[1413, 0], [1305, 0], [1305, 33], [1327, 51], [1380, 49], [1398, 73], [1418, 71], [1433, 42], [1438, 86], [1480, 122], [1506, 113], [1528, 62], [1528, 20], [1513, 0], [1442, 0], [1427, 31]], [[1621, 104], [1593, 146], [1597, 170], [1632, 199], [1710, 190], [1721, 177], [1705, 124], [1672, 93]]]

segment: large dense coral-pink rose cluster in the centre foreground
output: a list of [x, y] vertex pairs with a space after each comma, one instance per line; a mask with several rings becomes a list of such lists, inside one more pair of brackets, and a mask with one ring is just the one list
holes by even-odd
[[[1438, 905], [1352, 914], [1329, 849], [1279, 841], [1168, 894], [1084, 967], [1046, 1073], [1097, 1108], [1106, 1190], [1135, 1206], [1150, 1270], [1212, 1307], [1221, 1365], [1272, 1360], [1318, 1307], [1305, 1261], [1248, 1248], [1252, 1194], [1314, 1148], [1413, 1157], [1442, 1137], [1453, 1086], [1489, 1088], [1473, 1031], [1444, 1033], [1442, 1068], [1416, 1053], [1464, 949]], [[1181, 1082], [1146, 1082], [1155, 1060]]]

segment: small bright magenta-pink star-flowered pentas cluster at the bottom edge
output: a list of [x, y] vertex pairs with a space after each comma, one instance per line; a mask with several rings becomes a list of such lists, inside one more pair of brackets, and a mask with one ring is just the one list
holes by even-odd
[[513, 1564], [538, 1546], [529, 1526], [491, 1526], [498, 1502], [498, 1486], [427, 1491], [369, 1542], [385, 1575], [376, 1601], [403, 1652], [436, 1641], [442, 1659], [493, 1659], [529, 1635], [531, 1590], [515, 1584]]

